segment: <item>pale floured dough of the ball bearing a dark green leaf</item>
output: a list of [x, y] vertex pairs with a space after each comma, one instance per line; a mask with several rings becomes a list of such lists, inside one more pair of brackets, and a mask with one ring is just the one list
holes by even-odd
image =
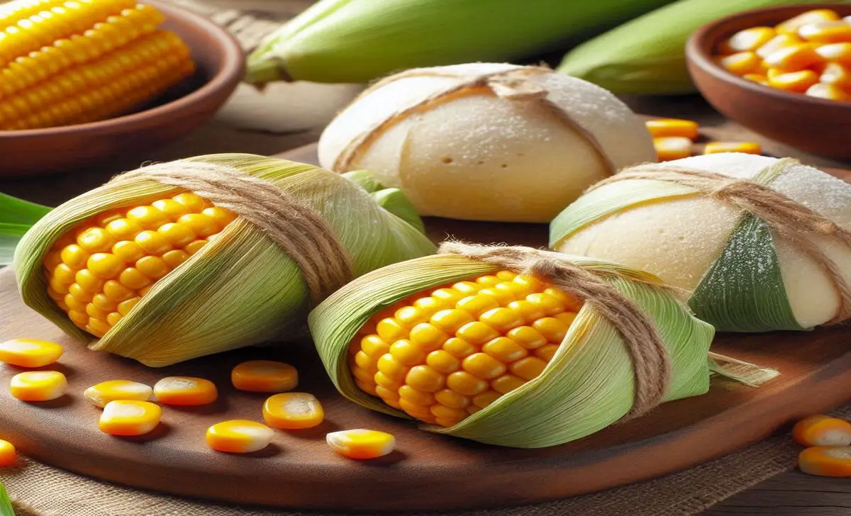
[[[752, 178], [775, 161], [766, 156], [728, 153], [669, 163]], [[769, 186], [851, 230], [851, 184], [814, 167], [796, 165]], [[691, 291], [720, 255], [740, 215], [740, 210], [705, 197], [652, 202], [603, 218], [558, 242], [556, 249], [648, 270]], [[825, 237], [815, 241], [842, 270], [845, 281], [851, 281], [851, 249]], [[775, 247], [798, 324], [810, 327], [831, 320], [839, 308], [839, 295], [825, 271], [785, 239], [775, 237]]]

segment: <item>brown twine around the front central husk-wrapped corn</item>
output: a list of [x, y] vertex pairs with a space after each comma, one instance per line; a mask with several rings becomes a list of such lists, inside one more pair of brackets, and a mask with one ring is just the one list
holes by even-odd
[[442, 254], [458, 254], [471, 260], [499, 265], [542, 278], [547, 284], [590, 304], [624, 338], [635, 371], [635, 395], [625, 419], [641, 416], [659, 405], [671, 383], [671, 356], [653, 320], [600, 275], [620, 276], [615, 271], [594, 271], [573, 264], [558, 252], [532, 247], [480, 246], [448, 241]]

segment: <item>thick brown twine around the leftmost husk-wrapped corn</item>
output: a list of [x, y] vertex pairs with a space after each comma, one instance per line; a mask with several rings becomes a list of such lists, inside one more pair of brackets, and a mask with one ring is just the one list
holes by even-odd
[[275, 184], [237, 168], [205, 162], [159, 163], [123, 173], [111, 184], [148, 179], [195, 192], [254, 224], [301, 269], [313, 303], [351, 281], [351, 259], [313, 208]]

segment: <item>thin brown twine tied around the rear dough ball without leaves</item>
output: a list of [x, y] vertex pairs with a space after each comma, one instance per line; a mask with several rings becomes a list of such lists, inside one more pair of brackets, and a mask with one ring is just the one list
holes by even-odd
[[[357, 156], [361, 153], [363, 148], [368, 145], [368, 142], [372, 141], [375, 137], [377, 137], [380, 133], [384, 132], [387, 128], [390, 128], [392, 125], [396, 124], [398, 121], [402, 120], [405, 116], [414, 113], [415, 111], [423, 111], [425, 109], [429, 109], [435, 105], [439, 105], [450, 99], [454, 94], [460, 94], [465, 90], [474, 91], [476, 88], [488, 88], [491, 93], [500, 97], [500, 99], [507, 100], [537, 100], [540, 105], [544, 106], [548, 111], [550, 111], [554, 116], [558, 118], [559, 121], [563, 122], [564, 125], [568, 126], [568, 128], [573, 129], [577, 133], [588, 141], [594, 150], [597, 151], [597, 155], [606, 164], [608, 167], [609, 173], [615, 173], [616, 167], [614, 167], [614, 163], [608, 158], [605, 150], [603, 150], [603, 145], [600, 145], [600, 142], [594, 136], [591, 131], [588, 131], [583, 127], [579, 122], [576, 122], [573, 117], [570, 116], [570, 113], [564, 111], [561, 106], [557, 105], [555, 102], [552, 102], [547, 98], [546, 88], [541, 86], [537, 82], [529, 81], [528, 77], [541, 75], [545, 73], [552, 73], [550, 68], [546, 68], [545, 66], [526, 66], [523, 68], [513, 68], [511, 70], [503, 70], [503, 71], [494, 71], [491, 73], [479, 74], [471, 77], [463, 78], [459, 83], [455, 84], [451, 88], [443, 89], [441, 91], [435, 92], [425, 99], [420, 100], [420, 102], [408, 106], [407, 108], [396, 111], [391, 116], [388, 116], [385, 120], [382, 120], [378, 124], [374, 125], [372, 128], [368, 128], [368, 130], [364, 131], [357, 135], [357, 138], [352, 139], [349, 142], [349, 145], [346, 145], [346, 148], [343, 149], [337, 158], [334, 160], [334, 165], [332, 169], [336, 172], [346, 172], [351, 167], [351, 163], [357, 158]], [[391, 77], [385, 77], [378, 82], [375, 82], [369, 88], [365, 89], [363, 93], [361, 93], [357, 99], [352, 101], [352, 104], [356, 103], [357, 100], [363, 98], [363, 96], [367, 94], [371, 94], [376, 89], [382, 88], [391, 82], [396, 82], [401, 79], [408, 79], [414, 77], [448, 77], [448, 78], [460, 78], [454, 74], [441, 73], [439, 71], [433, 71], [427, 68], [416, 68], [408, 71], [403, 71], [401, 73], [397, 73]]]

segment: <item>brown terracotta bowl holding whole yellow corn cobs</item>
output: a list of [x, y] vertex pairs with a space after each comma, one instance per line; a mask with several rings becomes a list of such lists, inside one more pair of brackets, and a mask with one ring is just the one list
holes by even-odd
[[91, 166], [179, 138], [243, 75], [238, 43], [156, 0], [0, 3], [0, 175]]

